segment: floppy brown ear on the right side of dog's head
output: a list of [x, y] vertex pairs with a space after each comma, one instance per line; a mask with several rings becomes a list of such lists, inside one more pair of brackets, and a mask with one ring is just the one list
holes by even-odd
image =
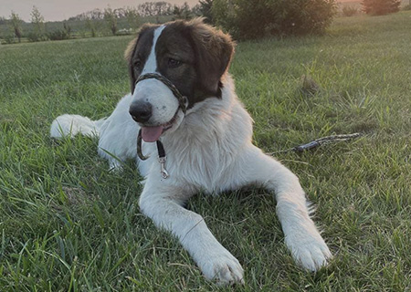
[[203, 23], [203, 18], [189, 22], [196, 54], [196, 71], [200, 90], [216, 95], [219, 81], [226, 73], [235, 44], [231, 37], [213, 26]]

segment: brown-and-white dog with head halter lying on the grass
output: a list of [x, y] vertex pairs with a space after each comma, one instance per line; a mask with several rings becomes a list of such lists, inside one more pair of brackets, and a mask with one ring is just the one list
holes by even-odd
[[[234, 47], [230, 36], [201, 18], [144, 25], [125, 53], [131, 94], [107, 119], [59, 116], [52, 122], [51, 137], [98, 136], [100, 156], [114, 170], [121, 170], [122, 161], [135, 159], [144, 177], [142, 214], [175, 235], [207, 279], [241, 284], [243, 268], [203, 217], [185, 209], [184, 203], [195, 193], [217, 194], [248, 185], [275, 193], [290, 254], [300, 266], [316, 271], [332, 254], [311, 220], [297, 176], [252, 143], [253, 120], [227, 73]], [[142, 138], [147, 160], [137, 151], [136, 137]], [[157, 160], [157, 141], [163, 144], [166, 161]]]

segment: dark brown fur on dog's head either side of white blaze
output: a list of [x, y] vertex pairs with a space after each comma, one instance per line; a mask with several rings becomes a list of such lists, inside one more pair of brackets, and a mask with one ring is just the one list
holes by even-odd
[[[129, 62], [132, 91], [142, 71], [141, 65], [136, 66], [136, 60], [139, 64], [146, 61], [156, 27], [142, 26], [139, 36], [132, 40], [124, 54]], [[230, 36], [205, 25], [203, 18], [188, 22], [177, 20], [165, 24], [155, 46], [157, 71], [188, 98], [189, 108], [209, 97], [220, 97], [220, 79], [227, 72], [235, 47]], [[170, 67], [170, 58], [177, 59], [181, 65]]]

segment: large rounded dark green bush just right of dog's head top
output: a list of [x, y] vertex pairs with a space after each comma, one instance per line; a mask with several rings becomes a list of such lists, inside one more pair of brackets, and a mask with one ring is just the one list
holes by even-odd
[[321, 34], [335, 15], [334, 0], [214, 0], [214, 23], [239, 39]]

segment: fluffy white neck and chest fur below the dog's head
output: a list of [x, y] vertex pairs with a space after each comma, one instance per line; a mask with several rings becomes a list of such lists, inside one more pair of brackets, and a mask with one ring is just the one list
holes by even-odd
[[[165, 167], [171, 182], [185, 180], [184, 185], [198, 184], [213, 193], [237, 155], [249, 149], [252, 119], [237, 99], [232, 78], [227, 75], [223, 81], [221, 99], [196, 104], [187, 110], [177, 130], [164, 133]], [[157, 160], [154, 163], [152, 170], [158, 172], [160, 165]]]

